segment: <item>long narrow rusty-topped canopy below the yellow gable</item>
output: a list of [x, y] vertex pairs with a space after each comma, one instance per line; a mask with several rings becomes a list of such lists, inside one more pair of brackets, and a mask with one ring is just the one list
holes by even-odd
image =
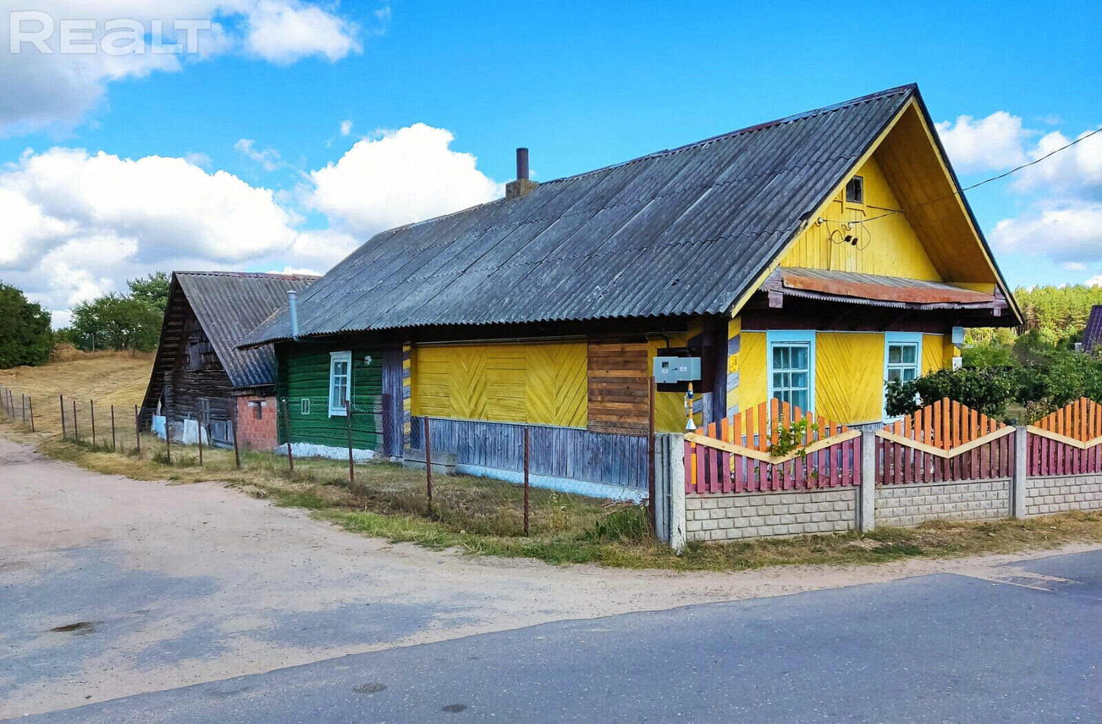
[[[773, 309], [782, 307], [786, 296], [915, 311], [979, 312], [992, 317], [1002, 317], [1009, 309], [997, 288], [988, 294], [949, 282], [823, 269], [778, 268], [760, 291]], [[1015, 324], [1011, 315], [1006, 321]]]

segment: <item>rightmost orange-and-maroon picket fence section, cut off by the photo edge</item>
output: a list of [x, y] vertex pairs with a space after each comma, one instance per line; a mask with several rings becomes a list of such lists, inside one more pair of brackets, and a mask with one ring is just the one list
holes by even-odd
[[1080, 398], [1029, 425], [1029, 475], [1102, 472], [1102, 404]]

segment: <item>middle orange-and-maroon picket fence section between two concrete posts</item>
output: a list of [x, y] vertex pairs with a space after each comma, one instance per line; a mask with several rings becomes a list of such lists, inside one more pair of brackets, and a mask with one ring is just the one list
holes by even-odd
[[1014, 429], [946, 398], [876, 432], [876, 484], [1009, 477]]

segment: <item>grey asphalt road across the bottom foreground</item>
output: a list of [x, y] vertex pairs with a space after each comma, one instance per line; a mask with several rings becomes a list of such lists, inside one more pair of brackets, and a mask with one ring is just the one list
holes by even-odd
[[32, 722], [1096, 722], [1102, 552], [559, 622]]

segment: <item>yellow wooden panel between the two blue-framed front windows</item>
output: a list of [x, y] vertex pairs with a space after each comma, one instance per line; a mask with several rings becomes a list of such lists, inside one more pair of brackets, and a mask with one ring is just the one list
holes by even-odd
[[884, 414], [884, 335], [820, 332], [815, 335], [815, 409], [846, 424]]

